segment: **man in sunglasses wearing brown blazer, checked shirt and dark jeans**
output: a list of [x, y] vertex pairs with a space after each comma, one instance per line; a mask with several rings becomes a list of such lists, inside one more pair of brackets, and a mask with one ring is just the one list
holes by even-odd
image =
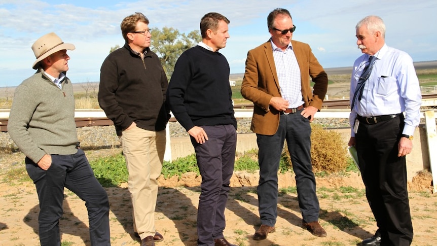
[[[296, 26], [285, 9], [267, 17], [271, 38], [250, 50], [241, 86], [244, 98], [254, 103], [251, 130], [257, 133], [260, 181], [258, 202], [261, 227], [253, 235], [263, 240], [275, 231], [279, 160], [287, 140], [296, 174], [302, 226], [325, 237], [318, 222], [319, 202], [311, 165], [311, 126], [327, 89], [327, 75], [308, 44], [292, 41]], [[311, 91], [310, 77], [315, 83]]]

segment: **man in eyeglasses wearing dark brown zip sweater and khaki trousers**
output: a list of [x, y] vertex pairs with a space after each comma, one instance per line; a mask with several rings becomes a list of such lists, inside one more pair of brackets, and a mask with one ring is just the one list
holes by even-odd
[[141, 13], [123, 19], [125, 45], [112, 52], [100, 69], [98, 101], [114, 122], [129, 171], [133, 229], [141, 245], [163, 237], [155, 229], [158, 177], [165, 151], [167, 76], [150, 50], [149, 20]]

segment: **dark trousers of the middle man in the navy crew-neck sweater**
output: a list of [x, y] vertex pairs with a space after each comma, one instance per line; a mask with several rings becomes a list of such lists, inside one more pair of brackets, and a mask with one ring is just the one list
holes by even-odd
[[191, 137], [202, 183], [197, 212], [197, 245], [214, 246], [226, 226], [225, 208], [234, 172], [237, 131], [233, 125], [200, 126], [208, 135], [204, 144]]

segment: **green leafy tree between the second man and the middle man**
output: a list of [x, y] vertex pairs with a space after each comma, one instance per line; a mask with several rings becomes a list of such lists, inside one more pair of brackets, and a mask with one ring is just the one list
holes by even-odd
[[162, 30], [152, 28], [151, 50], [155, 52], [164, 67], [167, 78], [173, 74], [177, 58], [187, 49], [202, 40], [200, 32], [193, 30], [188, 34], [180, 33], [173, 27], [163, 27]]

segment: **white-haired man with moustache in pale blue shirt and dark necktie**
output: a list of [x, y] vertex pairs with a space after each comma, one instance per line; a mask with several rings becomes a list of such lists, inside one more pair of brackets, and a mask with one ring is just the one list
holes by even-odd
[[[420, 121], [421, 93], [412, 58], [385, 44], [378, 16], [356, 25], [358, 48], [350, 85], [351, 137], [378, 230], [361, 245], [410, 245], [413, 240], [406, 155]], [[405, 115], [404, 115], [405, 113]]]

